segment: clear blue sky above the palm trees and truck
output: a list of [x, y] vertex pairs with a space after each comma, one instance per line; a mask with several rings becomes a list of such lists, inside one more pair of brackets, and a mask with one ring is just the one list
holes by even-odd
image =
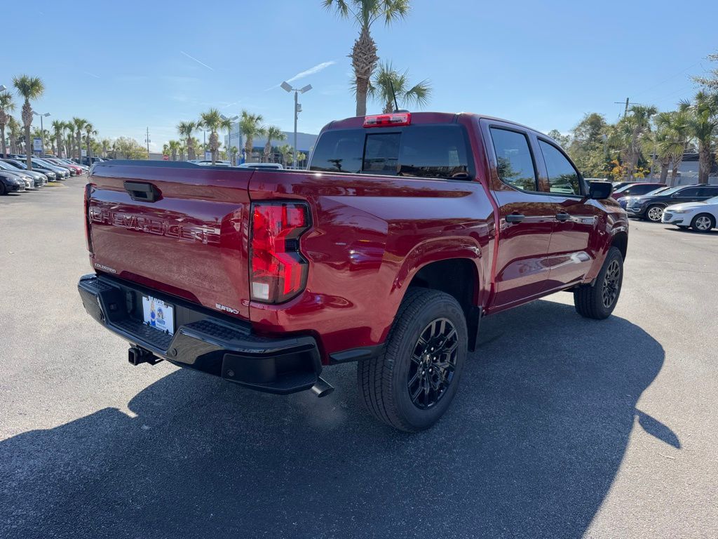
[[[34, 0], [31, 27], [22, 24], [27, 3], [6, 4], [0, 84], [40, 76], [47, 91], [34, 109], [48, 120], [82, 116], [103, 137], [140, 142], [149, 126], [151, 149], [210, 106], [227, 115], [248, 109], [291, 130], [292, 98], [276, 85], [307, 71], [295, 81], [314, 86], [300, 98], [299, 131], [354, 114], [347, 55], [357, 31], [320, 0]], [[714, 2], [700, 17], [667, 1], [411, 4], [405, 22], [376, 24], [373, 37], [382, 59], [431, 80], [426, 109], [542, 131], [567, 132], [593, 111], [614, 121], [623, 110], [614, 101], [627, 96], [671, 109], [691, 96], [689, 75], [707, 70], [706, 55], [718, 50]]]

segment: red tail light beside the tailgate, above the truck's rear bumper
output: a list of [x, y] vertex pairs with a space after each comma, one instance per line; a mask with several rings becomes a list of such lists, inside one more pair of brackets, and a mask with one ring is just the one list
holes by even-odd
[[307, 261], [299, 252], [299, 236], [308, 229], [306, 204], [253, 205], [249, 279], [253, 300], [281, 303], [304, 290]]

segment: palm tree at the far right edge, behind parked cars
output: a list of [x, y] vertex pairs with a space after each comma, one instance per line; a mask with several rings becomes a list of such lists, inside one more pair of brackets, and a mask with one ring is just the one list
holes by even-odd
[[689, 134], [698, 141], [698, 183], [708, 183], [718, 140], [718, 94], [700, 91], [692, 102], [681, 101], [679, 106], [689, 113]]

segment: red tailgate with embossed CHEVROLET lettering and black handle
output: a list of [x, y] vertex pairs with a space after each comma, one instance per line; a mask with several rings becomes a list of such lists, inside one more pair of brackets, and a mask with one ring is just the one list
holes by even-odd
[[248, 318], [253, 171], [158, 165], [95, 165], [85, 195], [90, 263], [98, 272]]

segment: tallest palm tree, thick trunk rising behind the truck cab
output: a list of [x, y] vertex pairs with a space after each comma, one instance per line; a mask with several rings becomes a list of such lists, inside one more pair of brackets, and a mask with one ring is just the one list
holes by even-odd
[[334, 9], [342, 19], [351, 19], [359, 27], [350, 58], [354, 69], [353, 86], [357, 99], [357, 116], [366, 115], [369, 81], [379, 61], [371, 25], [383, 19], [387, 26], [409, 14], [409, 0], [322, 0], [326, 9]]

